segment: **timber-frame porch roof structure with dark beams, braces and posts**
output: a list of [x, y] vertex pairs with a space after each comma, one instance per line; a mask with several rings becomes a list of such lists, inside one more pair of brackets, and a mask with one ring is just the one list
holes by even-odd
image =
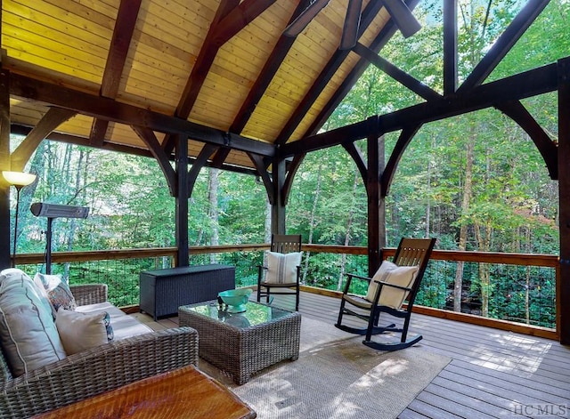
[[[188, 198], [199, 170], [264, 182], [272, 230], [306, 153], [342, 145], [369, 197], [369, 270], [381, 260], [384, 199], [398, 161], [428, 122], [495, 108], [532, 138], [558, 180], [560, 342], [570, 343], [570, 56], [485, 83], [549, 0], [529, 0], [458, 81], [458, 1], [444, 0], [443, 91], [381, 56], [396, 31], [413, 36], [419, 0], [121, 0], [2, 2], [0, 165], [21, 171], [40, 141], [154, 157], [176, 200], [177, 261], [188, 264]], [[374, 65], [419, 97], [407, 109], [320, 129]], [[521, 103], [558, 92], [558, 141]], [[8, 129], [10, 127], [10, 129]], [[385, 161], [383, 135], [399, 132]], [[10, 133], [25, 135], [11, 153]], [[366, 139], [367, 158], [355, 145]], [[173, 167], [171, 162], [175, 162]], [[0, 195], [0, 261], [11, 260], [9, 185]]]

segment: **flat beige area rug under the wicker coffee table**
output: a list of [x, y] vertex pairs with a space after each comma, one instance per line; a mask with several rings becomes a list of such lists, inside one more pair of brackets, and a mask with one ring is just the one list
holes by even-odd
[[451, 359], [422, 351], [374, 351], [362, 336], [310, 318], [301, 321], [299, 359], [283, 361], [238, 386], [203, 359], [259, 419], [395, 418]]

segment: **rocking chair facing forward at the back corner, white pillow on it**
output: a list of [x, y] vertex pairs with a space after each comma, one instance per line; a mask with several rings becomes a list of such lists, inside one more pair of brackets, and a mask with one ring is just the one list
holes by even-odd
[[[271, 294], [295, 294], [295, 310], [299, 310], [299, 278], [301, 270], [301, 235], [273, 234], [267, 266], [259, 267], [257, 302], [262, 296], [271, 303]], [[265, 288], [265, 289], [264, 289]], [[272, 291], [272, 288], [280, 291]]]

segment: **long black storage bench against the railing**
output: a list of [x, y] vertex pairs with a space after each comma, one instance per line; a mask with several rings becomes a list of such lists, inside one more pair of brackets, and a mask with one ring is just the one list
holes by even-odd
[[212, 264], [141, 272], [140, 310], [155, 320], [178, 314], [181, 305], [216, 300], [235, 288], [235, 267]]

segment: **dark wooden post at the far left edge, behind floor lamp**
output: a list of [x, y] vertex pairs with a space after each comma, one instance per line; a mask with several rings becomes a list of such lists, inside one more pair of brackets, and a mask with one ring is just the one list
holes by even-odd
[[[10, 72], [0, 67], [0, 171], [10, 170]], [[0, 269], [10, 266], [10, 185], [0, 175]]]

